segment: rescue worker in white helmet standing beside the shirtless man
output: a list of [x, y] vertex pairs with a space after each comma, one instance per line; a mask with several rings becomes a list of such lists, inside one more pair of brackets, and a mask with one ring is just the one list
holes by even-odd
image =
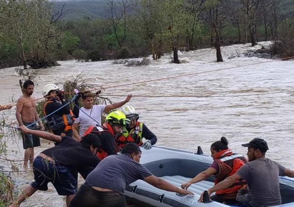
[[[43, 88], [43, 97], [47, 98], [44, 104], [44, 115], [53, 113], [68, 102], [64, 98], [64, 92], [59, 90], [58, 86], [54, 84], [47, 84]], [[75, 100], [75, 102], [78, 99]], [[78, 116], [78, 115], [77, 115]], [[74, 113], [70, 108], [70, 104], [57, 110], [53, 115], [46, 118], [49, 127], [55, 135], [58, 136], [73, 136], [72, 125], [74, 123]]]

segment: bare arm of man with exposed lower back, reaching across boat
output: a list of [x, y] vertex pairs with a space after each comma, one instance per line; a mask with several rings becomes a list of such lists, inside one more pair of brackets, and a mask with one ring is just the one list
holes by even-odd
[[175, 187], [174, 185], [170, 184], [169, 182], [166, 182], [164, 179], [161, 179], [161, 178], [156, 177], [154, 175], [146, 177], [144, 179], [144, 181], [146, 181], [150, 185], [152, 185], [156, 188], [162, 189], [162, 190], [177, 192], [177, 193], [185, 194], [185, 195], [187, 195], [187, 194], [194, 195], [193, 192]]

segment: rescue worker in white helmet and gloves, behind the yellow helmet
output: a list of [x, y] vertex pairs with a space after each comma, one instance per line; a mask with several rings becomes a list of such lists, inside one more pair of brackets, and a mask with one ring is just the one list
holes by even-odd
[[[122, 108], [122, 112], [130, 120], [130, 124], [123, 128], [123, 134], [116, 139], [118, 150], [123, 149], [128, 142], [135, 142], [147, 150], [151, 149], [157, 142], [157, 138], [144, 123], [138, 121], [139, 114], [136, 109], [127, 105]], [[144, 143], [143, 138], [147, 139]]]

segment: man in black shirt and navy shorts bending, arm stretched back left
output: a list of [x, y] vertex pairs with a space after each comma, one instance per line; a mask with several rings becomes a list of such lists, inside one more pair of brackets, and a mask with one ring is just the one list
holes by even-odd
[[100, 161], [95, 155], [101, 145], [99, 137], [96, 134], [89, 134], [78, 142], [70, 137], [31, 130], [25, 126], [19, 128], [23, 133], [52, 140], [58, 144], [44, 150], [35, 158], [33, 163], [35, 181], [22, 191], [17, 203], [11, 206], [19, 206], [37, 190], [48, 190], [49, 182], [54, 185], [59, 195], [67, 196], [66, 203], [69, 206], [77, 192], [77, 176], [73, 172], [79, 172], [85, 179]]

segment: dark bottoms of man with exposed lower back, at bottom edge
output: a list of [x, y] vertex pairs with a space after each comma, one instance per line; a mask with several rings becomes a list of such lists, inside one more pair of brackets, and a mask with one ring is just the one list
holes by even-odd
[[127, 207], [125, 196], [114, 191], [104, 192], [82, 185], [70, 207]]

